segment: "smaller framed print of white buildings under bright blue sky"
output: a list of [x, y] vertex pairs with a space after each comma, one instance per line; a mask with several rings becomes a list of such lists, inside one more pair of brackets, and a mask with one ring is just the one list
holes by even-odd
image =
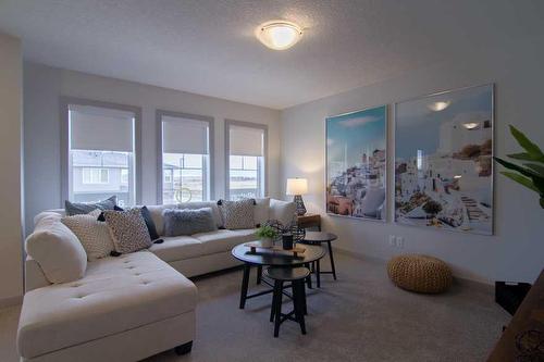
[[326, 212], [385, 221], [387, 107], [325, 122]]

